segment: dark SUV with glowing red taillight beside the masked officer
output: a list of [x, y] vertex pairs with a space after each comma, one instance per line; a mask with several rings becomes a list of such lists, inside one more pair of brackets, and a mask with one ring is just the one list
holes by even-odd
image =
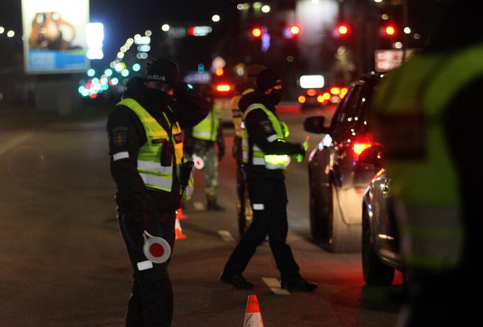
[[306, 131], [325, 133], [309, 156], [310, 226], [332, 252], [361, 249], [364, 191], [377, 171], [358, 159], [373, 146], [367, 115], [381, 78], [369, 73], [354, 80], [328, 127], [322, 116], [304, 122]]

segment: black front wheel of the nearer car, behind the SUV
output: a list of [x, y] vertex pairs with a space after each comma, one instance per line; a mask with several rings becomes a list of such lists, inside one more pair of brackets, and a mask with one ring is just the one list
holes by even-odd
[[382, 263], [374, 251], [367, 210], [362, 215], [362, 273], [369, 285], [387, 286], [394, 279], [394, 268]]

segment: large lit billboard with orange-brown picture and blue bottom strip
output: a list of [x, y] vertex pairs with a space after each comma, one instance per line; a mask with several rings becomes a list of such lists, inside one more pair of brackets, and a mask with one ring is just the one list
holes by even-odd
[[22, 0], [22, 22], [26, 73], [78, 73], [89, 68], [89, 0]]

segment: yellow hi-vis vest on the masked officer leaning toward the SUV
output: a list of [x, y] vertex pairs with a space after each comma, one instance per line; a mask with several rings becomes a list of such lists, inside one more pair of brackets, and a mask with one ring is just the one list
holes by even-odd
[[[265, 114], [267, 115], [269, 121], [272, 123], [272, 127], [275, 133], [267, 138], [270, 143], [275, 141], [286, 142], [285, 138], [288, 137], [289, 134], [288, 126], [284, 122], [279, 121], [274, 112], [268, 110], [267, 107], [263, 106], [261, 103], [253, 103], [246, 109], [244, 113], [244, 119], [246, 118], [248, 113], [252, 112], [253, 110], [263, 110], [263, 112], [265, 112]], [[246, 130], [246, 128], [244, 128], [243, 140], [241, 143], [244, 163], [251, 163], [254, 166], [265, 166], [265, 168], [267, 169], [285, 169], [290, 163], [290, 157], [288, 155], [265, 154], [262, 152], [260, 147], [255, 145], [255, 143], [253, 143], [251, 149], [252, 161], [249, 162], [249, 146], [250, 145], [248, 143], [248, 131]]]

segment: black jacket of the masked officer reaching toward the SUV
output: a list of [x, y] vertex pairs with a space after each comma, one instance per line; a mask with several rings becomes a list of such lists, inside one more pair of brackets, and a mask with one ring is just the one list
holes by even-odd
[[[253, 103], [262, 103], [267, 109], [272, 110], [276, 115], [274, 104], [270, 101], [269, 97], [258, 90], [248, 93], [241, 97], [239, 102], [239, 108], [241, 112], [245, 112], [246, 109]], [[301, 145], [296, 143], [284, 143], [280, 141], [269, 142], [267, 138], [272, 136], [275, 131], [271, 127], [267, 114], [262, 110], [253, 110], [248, 113], [244, 118], [245, 128], [248, 131], [248, 146], [250, 152], [248, 154], [248, 164], [246, 165], [247, 180], [260, 179], [260, 178], [276, 178], [284, 179], [283, 169], [267, 169], [265, 166], [254, 166], [251, 164], [253, 158], [252, 147], [255, 143], [260, 150], [265, 154], [305, 154]]]

